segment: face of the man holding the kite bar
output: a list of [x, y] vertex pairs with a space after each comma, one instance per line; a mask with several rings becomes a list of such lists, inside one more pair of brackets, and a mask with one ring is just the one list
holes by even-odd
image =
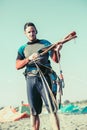
[[29, 41], [34, 41], [36, 39], [36, 29], [33, 26], [29, 26], [25, 30], [25, 35]]

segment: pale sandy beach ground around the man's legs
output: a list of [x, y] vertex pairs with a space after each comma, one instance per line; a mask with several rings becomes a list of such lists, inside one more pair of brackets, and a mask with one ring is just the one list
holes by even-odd
[[[87, 114], [58, 113], [61, 130], [87, 130]], [[40, 130], [52, 130], [48, 113], [40, 115]], [[30, 118], [0, 123], [0, 130], [31, 130]]]

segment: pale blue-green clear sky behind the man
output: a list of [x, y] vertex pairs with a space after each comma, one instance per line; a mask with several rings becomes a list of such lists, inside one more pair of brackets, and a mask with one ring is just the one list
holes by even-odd
[[[27, 102], [23, 70], [16, 70], [18, 48], [27, 42], [26, 22], [34, 22], [37, 37], [56, 43], [76, 31], [77, 38], [64, 44], [61, 67], [65, 88], [62, 100], [87, 99], [87, 1], [0, 0], [0, 106]], [[59, 66], [52, 62], [59, 73]]]

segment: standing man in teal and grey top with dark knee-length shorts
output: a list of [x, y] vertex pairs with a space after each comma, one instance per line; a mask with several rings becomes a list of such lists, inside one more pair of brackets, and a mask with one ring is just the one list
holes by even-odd
[[[49, 57], [58, 63], [60, 60], [59, 51], [62, 45], [56, 45], [55, 48], [40, 55], [44, 48], [52, 44], [48, 40], [37, 39], [38, 31], [32, 22], [24, 25], [24, 33], [28, 38], [28, 42], [18, 49], [16, 68], [19, 70], [25, 67], [24, 75], [31, 109], [32, 130], [39, 130], [39, 114], [42, 112], [42, 100], [50, 113], [53, 130], [60, 130], [57, 107], [52, 100], [53, 95], [50, 94], [50, 90], [52, 92], [51, 74], [55, 77], [55, 72], [52, 70]], [[48, 85], [49, 87], [47, 87]]]

